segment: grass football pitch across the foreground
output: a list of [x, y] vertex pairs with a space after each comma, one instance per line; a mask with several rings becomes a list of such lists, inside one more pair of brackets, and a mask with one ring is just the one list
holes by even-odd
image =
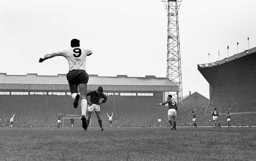
[[255, 159], [255, 127], [0, 128], [0, 160]]

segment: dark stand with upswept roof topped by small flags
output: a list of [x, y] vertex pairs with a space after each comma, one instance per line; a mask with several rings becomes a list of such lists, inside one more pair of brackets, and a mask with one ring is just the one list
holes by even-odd
[[217, 63], [198, 64], [198, 70], [210, 86], [206, 114], [217, 108], [225, 114], [220, 116], [221, 122], [226, 123], [225, 116], [229, 112], [233, 113], [234, 125], [256, 125], [256, 48]]

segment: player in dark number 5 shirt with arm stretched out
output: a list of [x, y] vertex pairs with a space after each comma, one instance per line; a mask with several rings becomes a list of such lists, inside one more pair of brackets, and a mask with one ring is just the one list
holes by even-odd
[[[172, 99], [172, 95], [168, 95], [167, 97], [167, 101], [163, 102], [163, 103], [158, 103], [157, 105], [165, 105], [168, 103], [168, 122], [171, 124], [171, 130], [176, 130], [176, 110], [177, 110], [177, 103], [176, 101], [174, 101]], [[173, 123], [172, 123], [172, 119], [173, 119]]]

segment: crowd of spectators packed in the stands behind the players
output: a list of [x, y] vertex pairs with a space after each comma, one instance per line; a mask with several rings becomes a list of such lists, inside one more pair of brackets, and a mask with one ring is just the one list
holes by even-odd
[[[177, 125], [193, 126], [192, 111], [195, 111], [198, 126], [212, 126], [211, 111], [216, 107], [220, 112], [221, 125], [227, 125], [226, 113], [229, 112], [232, 126], [256, 126], [256, 113], [241, 113], [256, 111], [256, 95], [251, 90], [246, 89], [240, 92], [229, 89], [214, 90], [208, 108], [199, 105], [178, 105]], [[131, 96], [131, 99], [119, 97], [116, 98], [115, 108], [111, 99], [113, 98], [110, 97], [109, 102], [101, 105], [101, 118], [104, 127], [109, 126], [107, 112], [114, 113], [113, 127], [156, 127], [159, 118], [162, 119], [162, 126], [170, 126], [167, 118], [168, 106], [157, 106], [157, 103], [161, 103], [161, 101], [153, 97], [144, 97], [144, 101], [141, 101], [141, 97]], [[78, 114], [76, 117], [80, 117], [80, 109], [70, 107], [72, 105], [70, 99], [65, 98], [65, 101], [56, 103], [55, 99], [48, 98], [47, 101], [47, 109], [45, 109], [45, 101], [29, 100], [28, 107], [24, 105], [20, 107], [19, 103], [9, 102], [10, 106], [1, 110], [0, 127], [8, 127], [14, 113], [14, 127], [57, 127], [58, 113], [62, 113], [62, 118], [71, 117], [70, 114]], [[238, 114], [239, 112], [241, 114]], [[92, 113], [91, 125], [99, 126], [94, 113]], [[70, 126], [69, 119], [65, 120], [64, 126]], [[74, 126], [80, 127], [81, 120], [75, 119]]]

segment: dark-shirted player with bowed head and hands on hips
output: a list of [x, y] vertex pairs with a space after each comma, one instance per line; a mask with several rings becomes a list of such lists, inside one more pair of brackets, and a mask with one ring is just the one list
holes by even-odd
[[[86, 128], [84, 129], [87, 131], [87, 127], [90, 123], [90, 118], [92, 115], [92, 112], [95, 111], [96, 116], [98, 118], [98, 123], [100, 125], [100, 131], [103, 131], [102, 128], [102, 120], [100, 118], [100, 105], [102, 103], [105, 103], [107, 101], [107, 96], [103, 93], [103, 88], [100, 86], [97, 90], [94, 91], [88, 91], [86, 96], [88, 97], [90, 95], [90, 101], [88, 102], [88, 108], [87, 108], [87, 119], [86, 119]], [[104, 98], [102, 101], [100, 101], [101, 98]]]

